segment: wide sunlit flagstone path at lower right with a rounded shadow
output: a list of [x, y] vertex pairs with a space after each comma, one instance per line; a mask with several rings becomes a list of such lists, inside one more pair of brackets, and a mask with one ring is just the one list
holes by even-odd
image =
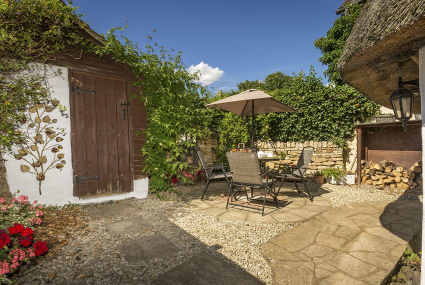
[[422, 204], [349, 204], [320, 213], [262, 246], [275, 284], [380, 284], [421, 228]]

